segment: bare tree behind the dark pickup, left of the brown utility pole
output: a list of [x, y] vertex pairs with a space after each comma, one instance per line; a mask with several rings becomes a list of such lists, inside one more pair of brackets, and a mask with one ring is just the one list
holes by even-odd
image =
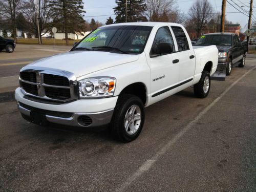
[[212, 6], [208, 0], [197, 0], [189, 9], [190, 22], [193, 23], [197, 36], [202, 33], [203, 26], [212, 17]]

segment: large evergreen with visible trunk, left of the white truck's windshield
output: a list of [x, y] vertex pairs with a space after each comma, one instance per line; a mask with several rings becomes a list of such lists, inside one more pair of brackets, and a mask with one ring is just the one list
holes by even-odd
[[84, 19], [82, 0], [51, 0], [53, 24], [59, 31], [65, 32], [66, 45], [69, 45], [68, 33], [81, 31]]

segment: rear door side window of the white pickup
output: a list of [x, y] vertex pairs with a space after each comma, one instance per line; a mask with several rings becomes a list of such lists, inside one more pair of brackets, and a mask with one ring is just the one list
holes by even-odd
[[179, 51], [189, 50], [187, 37], [180, 27], [172, 27], [177, 40]]

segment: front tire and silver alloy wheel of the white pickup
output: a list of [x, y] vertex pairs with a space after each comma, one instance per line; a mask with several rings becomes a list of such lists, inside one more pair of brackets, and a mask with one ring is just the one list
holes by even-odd
[[144, 105], [141, 99], [134, 95], [121, 95], [110, 123], [110, 131], [117, 140], [131, 142], [139, 136], [144, 119]]

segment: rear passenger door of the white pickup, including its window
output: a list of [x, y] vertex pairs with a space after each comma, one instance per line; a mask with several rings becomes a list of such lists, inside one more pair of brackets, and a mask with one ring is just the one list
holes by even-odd
[[179, 82], [180, 84], [193, 82], [196, 58], [192, 47], [189, 47], [188, 37], [181, 27], [172, 26], [177, 45], [178, 45], [178, 58], [180, 63]]

